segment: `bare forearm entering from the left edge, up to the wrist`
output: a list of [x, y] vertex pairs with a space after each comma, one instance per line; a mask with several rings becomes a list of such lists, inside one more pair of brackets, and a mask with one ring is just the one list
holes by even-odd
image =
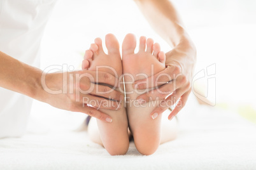
[[42, 71], [0, 51], [0, 87], [36, 98], [41, 88]]

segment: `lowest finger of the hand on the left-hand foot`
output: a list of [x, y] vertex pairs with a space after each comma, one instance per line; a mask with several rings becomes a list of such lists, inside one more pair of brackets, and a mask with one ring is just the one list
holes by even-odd
[[99, 110], [92, 107], [88, 107], [86, 105], [84, 107], [78, 107], [76, 109], [76, 112], [82, 112], [84, 114], [95, 117], [96, 119], [99, 119], [103, 122], [109, 122], [109, 123], [112, 122], [112, 118], [109, 115], [104, 114], [103, 112], [100, 112]]

